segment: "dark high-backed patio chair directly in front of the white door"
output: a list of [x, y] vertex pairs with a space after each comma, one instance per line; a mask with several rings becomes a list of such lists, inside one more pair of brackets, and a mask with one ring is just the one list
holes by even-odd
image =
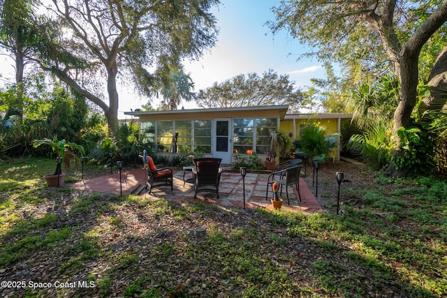
[[197, 193], [207, 191], [216, 193], [217, 199], [219, 199], [221, 161], [221, 158], [194, 158], [196, 164], [196, 167], [193, 168], [193, 174], [196, 178], [194, 198], [197, 198]]

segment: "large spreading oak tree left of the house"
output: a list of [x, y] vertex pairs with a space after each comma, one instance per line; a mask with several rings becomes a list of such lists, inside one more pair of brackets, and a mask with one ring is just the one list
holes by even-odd
[[[117, 84], [149, 91], [154, 69], [197, 58], [216, 39], [218, 0], [52, 0], [41, 66], [101, 107], [116, 133]], [[51, 24], [48, 27], [48, 24]], [[54, 31], [54, 24], [61, 24]], [[132, 77], [133, 80], [129, 80]], [[103, 83], [105, 82], [105, 83]], [[105, 85], [105, 86], [104, 86]]]

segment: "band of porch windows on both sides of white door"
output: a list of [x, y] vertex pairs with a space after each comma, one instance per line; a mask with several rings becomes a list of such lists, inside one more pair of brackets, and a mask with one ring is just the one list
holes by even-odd
[[[154, 153], [194, 153], [210, 155], [213, 138], [230, 137], [233, 154], [268, 154], [271, 130], [279, 128], [279, 118], [233, 118], [230, 131], [222, 121], [157, 120], [140, 121], [140, 142], [149, 144]], [[226, 142], [216, 142], [226, 146]], [[219, 148], [222, 149], [222, 148]]]

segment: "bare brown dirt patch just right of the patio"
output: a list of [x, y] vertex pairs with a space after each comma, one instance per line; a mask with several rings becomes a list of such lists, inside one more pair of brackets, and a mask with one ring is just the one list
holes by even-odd
[[303, 167], [302, 172], [306, 172], [304, 179], [310, 191], [316, 196], [323, 209], [331, 213], [337, 212], [338, 183], [335, 177], [337, 172], [344, 173], [344, 181], [340, 184], [341, 204], [345, 200], [351, 200], [354, 193], [362, 191], [363, 186], [368, 184], [368, 181], [374, 181], [376, 176], [374, 172], [367, 170], [366, 165], [356, 165], [348, 161], [328, 162], [320, 165], [318, 169], [317, 190], [317, 172], [314, 171], [312, 163], [307, 163], [307, 168]]

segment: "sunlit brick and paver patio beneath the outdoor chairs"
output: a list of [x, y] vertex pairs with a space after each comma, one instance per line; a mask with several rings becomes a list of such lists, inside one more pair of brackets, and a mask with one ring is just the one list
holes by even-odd
[[[122, 171], [122, 194], [123, 195], [146, 195], [154, 196], [156, 198], [166, 198], [168, 200], [176, 200], [179, 202], [210, 202], [219, 204], [223, 207], [244, 207], [244, 193], [243, 193], [243, 180], [239, 172], [230, 172], [224, 170], [221, 175], [221, 182], [219, 186], [219, 200], [216, 199], [215, 194], [199, 193], [196, 200], [194, 200], [194, 186], [186, 182], [184, 184], [183, 177], [184, 172], [182, 170], [175, 170], [173, 173], [173, 191], [170, 191], [169, 186], [159, 186], [152, 189], [152, 193], [146, 193], [141, 191], [142, 186], [145, 186], [147, 181], [147, 175], [145, 169], [135, 169]], [[191, 172], [186, 172], [185, 179], [191, 178]], [[265, 200], [265, 189], [267, 187], [268, 174], [264, 173], [247, 173], [245, 176], [245, 207], [254, 208], [268, 208], [272, 209], [270, 200]], [[87, 179], [79, 181], [73, 184], [66, 184], [69, 188], [78, 189], [81, 191], [92, 191], [100, 193], [111, 193], [119, 195], [119, 172], [109, 174], [106, 176], [95, 177], [93, 179]], [[139, 187], [140, 186], [140, 187]], [[290, 206], [287, 204], [286, 190], [283, 189], [281, 198], [284, 199], [282, 209], [287, 211], [305, 212], [312, 214], [314, 212], [323, 212], [320, 203], [314, 195], [311, 193], [305, 181], [300, 179], [300, 194], [301, 202], [298, 200], [298, 192], [293, 187], [289, 190]], [[272, 197], [272, 190], [269, 189], [269, 198]]]

